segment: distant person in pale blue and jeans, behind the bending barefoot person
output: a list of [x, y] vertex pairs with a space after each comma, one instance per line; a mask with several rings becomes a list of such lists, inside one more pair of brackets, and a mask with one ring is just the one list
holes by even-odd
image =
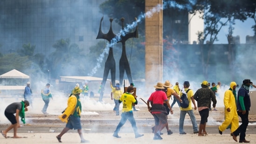
[[42, 90], [41, 90], [42, 100], [44, 101], [44, 106], [43, 106], [43, 109], [42, 109], [42, 113], [46, 114], [46, 115], [48, 114], [47, 113], [47, 108], [48, 108], [48, 105], [49, 105], [49, 102], [50, 102], [50, 98], [53, 99], [49, 88], [50, 88], [50, 84], [47, 83], [45, 85], [45, 87], [42, 88]]

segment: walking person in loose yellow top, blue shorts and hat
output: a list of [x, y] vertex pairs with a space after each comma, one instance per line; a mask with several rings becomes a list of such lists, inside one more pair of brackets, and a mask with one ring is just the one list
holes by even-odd
[[59, 116], [62, 122], [67, 123], [66, 127], [62, 130], [62, 132], [58, 136], [56, 136], [56, 138], [60, 143], [62, 142], [61, 141], [62, 135], [64, 135], [70, 129], [77, 130], [81, 138], [81, 143], [89, 142], [83, 138], [82, 126], [80, 121], [80, 114], [82, 110], [82, 105], [80, 102], [80, 93], [82, 91], [83, 90], [77, 86], [75, 87], [75, 89], [72, 90], [72, 94], [69, 96], [69, 99], [68, 99], [68, 106], [64, 110], [63, 114]]

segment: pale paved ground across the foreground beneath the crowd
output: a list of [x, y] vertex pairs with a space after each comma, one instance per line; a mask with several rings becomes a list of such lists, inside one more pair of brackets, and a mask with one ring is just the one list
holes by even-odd
[[[34, 99], [34, 107], [30, 108], [26, 113], [26, 124], [18, 129], [19, 136], [28, 138], [4, 138], [0, 136], [0, 144], [55, 144], [59, 143], [56, 139], [56, 135], [65, 127], [65, 123], [62, 123], [57, 116], [61, 114], [61, 111], [65, 108], [67, 98], [55, 98], [50, 102], [48, 108], [48, 115], [43, 115], [42, 100], [40, 98]], [[112, 137], [120, 116], [116, 116], [112, 111], [113, 102], [106, 99], [104, 103], [97, 102], [97, 98], [85, 98], [81, 99], [83, 104], [83, 113], [81, 117], [83, 133], [85, 139], [89, 140], [91, 144], [130, 144], [130, 143], [143, 143], [151, 144], [159, 141], [161, 144], [179, 143], [179, 144], [211, 144], [211, 143], [236, 143], [232, 137], [230, 137], [230, 130], [225, 130], [223, 135], [218, 133], [218, 126], [224, 119], [224, 108], [217, 108], [218, 111], [210, 111], [210, 116], [207, 123], [208, 136], [198, 137], [196, 134], [192, 134], [192, 124], [189, 116], [186, 116], [184, 130], [187, 135], [179, 134], [179, 108], [174, 108], [174, 114], [168, 116], [169, 128], [173, 131], [172, 135], [164, 133], [163, 140], [153, 140], [153, 134], [151, 127], [154, 125], [152, 115], [147, 111], [146, 105], [140, 101], [136, 106], [139, 111], [134, 112], [134, 117], [138, 126], [138, 130], [144, 137], [134, 138], [134, 134], [131, 128], [131, 124], [127, 121], [121, 128], [119, 136], [122, 138]], [[57, 106], [56, 106], [57, 105]], [[5, 107], [5, 105], [4, 105]], [[1, 106], [0, 106], [1, 108]], [[121, 108], [121, 106], [120, 106]], [[8, 120], [3, 116], [3, 108], [0, 109], [0, 130], [6, 129], [10, 124]], [[121, 109], [120, 109], [121, 110]], [[199, 124], [200, 116], [197, 110], [194, 110], [197, 123]], [[256, 143], [256, 116], [249, 116], [249, 127], [247, 130], [246, 139], [251, 141], [252, 144]], [[55, 130], [55, 133], [49, 132], [49, 130]], [[12, 130], [7, 136], [12, 136]], [[237, 137], [239, 138], [239, 137]], [[62, 137], [64, 144], [76, 144], [80, 143], [79, 135], [76, 130], [69, 130], [67, 134]]]

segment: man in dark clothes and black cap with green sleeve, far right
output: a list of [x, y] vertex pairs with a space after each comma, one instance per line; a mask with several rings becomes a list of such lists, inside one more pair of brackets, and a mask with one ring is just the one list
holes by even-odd
[[233, 139], [237, 142], [236, 137], [240, 133], [239, 143], [249, 143], [250, 141], [245, 139], [246, 129], [249, 123], [248, 115], [251, 107], [251, 100], [249, 95], [249, 88], [252, 84], [250, 79], [244, 79], [242, 86], [237, 93], [237, 113], [242, 119], [242, 124], [233, 132]]

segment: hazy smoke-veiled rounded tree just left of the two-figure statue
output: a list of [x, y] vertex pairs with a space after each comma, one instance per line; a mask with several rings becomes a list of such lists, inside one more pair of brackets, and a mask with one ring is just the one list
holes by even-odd
[[53, 78], [63, 75], [84, 75], [87, 73], [85, 56], [77, 44], [71, 44], [69, 39], [60, 39], [53, 44], [55, 51], [48, 57], [47, 63]]

